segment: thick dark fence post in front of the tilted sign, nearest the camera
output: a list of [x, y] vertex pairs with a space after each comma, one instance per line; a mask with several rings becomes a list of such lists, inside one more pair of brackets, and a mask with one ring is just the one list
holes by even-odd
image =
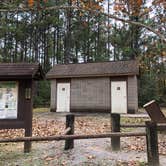
[[148, 165], [159, 166], [157, 125], [151, 121], [145, 123]]

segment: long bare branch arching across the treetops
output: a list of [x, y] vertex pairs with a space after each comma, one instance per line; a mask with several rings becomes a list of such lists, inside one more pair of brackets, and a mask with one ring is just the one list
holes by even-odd
[[45, 8], [41, 8], [41, 9], [37, 9], [37, 8], [0, 9], [0, 12], [16, 12], [17, 13], [17, 12], [29, 12], [29, 11], [37, 11], [37, 10], [40, 10], [40, 11], [49, 10], [50, 11], [50, 10], [59, 10], [59, 9], [64, 9], [64, 10], [76, 9], [76, 10], [80, 10], [83, 12], [88, 11], [88, 12], [94, 13], [95, 15], [102, 14], [104, 16], [107, 16], [107, 17], [117, 20], [117, 21], [121, 21], [121, 22], [125, 22], [128, 24], [133, 24], [136, 26], [143, 27], [143, 28], [147, 29], [148, 31], [151, 31], [154, 34], [156, 34], [163, 42], [166, 42], [166, 37], [163, 34], [159, 33], [158, 31], [156, 31], [155, 29], [153, 29], [152, 27], [150, 27], [146, 24], [143, 24], [141, 22], [135, 22], [135, 21], [123, 19], [123, 18], [114, 16], [112, 14], [107, 14], [103, 11], [95, 10], [95, 9], [91, 9], [91, 8], [83, 8], [83, 7], [78, 7], [78, 6], [52, 6], [52, 7], [45, 7]]

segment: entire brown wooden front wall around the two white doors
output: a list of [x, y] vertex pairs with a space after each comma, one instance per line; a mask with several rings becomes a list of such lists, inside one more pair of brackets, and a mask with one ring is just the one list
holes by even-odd
[[[125, 78], [122, 78], [124, 80]], [[121, 80], [121, 77], [72, 78], [70, 80], [71, 111], [107, 111], [111, 110], [111, 80]], [[128, 113], [138, 110], [137, 77], [129, 76], [127, 80]], [[63, 82], [63, 80], [61, 80]], [[64, 81], [65, 82], [65, 81]], [[51, 80], [51, 111], [56, 111], [57, 81]]]

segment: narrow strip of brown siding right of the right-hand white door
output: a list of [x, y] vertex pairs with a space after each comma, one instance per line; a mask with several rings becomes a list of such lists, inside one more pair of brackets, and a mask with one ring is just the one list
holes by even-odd
[[128, 77], [128, 110], [134, 113], [138, 110], [137, 77]]

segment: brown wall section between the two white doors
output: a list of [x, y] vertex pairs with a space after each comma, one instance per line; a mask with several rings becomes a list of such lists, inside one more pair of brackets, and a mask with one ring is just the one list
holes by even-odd
[[110, 79], [71, 79], [71, 111], [110, 111]]

